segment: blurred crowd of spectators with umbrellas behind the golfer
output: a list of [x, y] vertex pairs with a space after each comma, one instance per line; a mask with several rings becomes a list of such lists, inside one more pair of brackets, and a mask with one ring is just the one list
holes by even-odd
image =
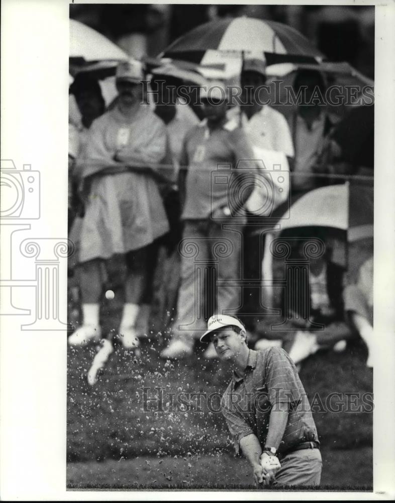
[[[70, 19], [69, 344], [106, 339], [97, 368], [113, 335], [187, 358], [219, 310], [251, 347], [282, 346], [299, 365], [356, 344], [371, 366], [374, 104], [360, 98], [373, 89], [374, 7], [71, 5]], [[274, 33], [281, 57], [241, 48], [235, 70], [220, 47], [237, 38], [232, 22]], [[199, 103], [170, 99], [182, 85]], [[265, 85], [279, 94], [262, 106], [251, 91]], [[309, 104], [278, 100], [286, 85]], [[354, 101], [329, 103], [331, 86], [353, 86]], [[213, 189], [210, 172], [245, 159], [265, 167], [233, 208], [232, 184]], [[224, 242], [233, 253], [216, 255]]]

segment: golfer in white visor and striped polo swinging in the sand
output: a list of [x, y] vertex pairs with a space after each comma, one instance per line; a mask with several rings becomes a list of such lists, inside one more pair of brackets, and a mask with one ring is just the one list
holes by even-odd
[[246, 331], [233, 316], [214, 315], [202, 342], [213, 342], [232, 380], [222, 413], [257, 485], [318, 486], [322, 460], [306, 392], [281, 348], [248, 349]]

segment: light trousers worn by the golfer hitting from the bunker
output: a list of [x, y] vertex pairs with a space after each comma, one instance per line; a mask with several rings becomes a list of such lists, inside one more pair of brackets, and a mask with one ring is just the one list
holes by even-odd
[[320, 485], [322, 458], [319, 449], [302, 449], [280, 460], [275, 476], [278, 485]]

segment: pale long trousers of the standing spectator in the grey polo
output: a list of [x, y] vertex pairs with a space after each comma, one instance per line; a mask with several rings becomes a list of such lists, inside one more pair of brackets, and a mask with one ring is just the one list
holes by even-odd
[[[242, 226], [235, 229], [224, 229], [220, 223], [211, 220], [185, 222], [179, 246], [181, 286], [174, 325], [176, 338], [190, 341], [192, 337], [201, 337], [207, 330], [207, 319], [214, 311], [237, 313], [241, 303], [241, 287], [237, 280], [242, 278], [243, 229]], [[214, 276], [217, 288], [213, 288]]]

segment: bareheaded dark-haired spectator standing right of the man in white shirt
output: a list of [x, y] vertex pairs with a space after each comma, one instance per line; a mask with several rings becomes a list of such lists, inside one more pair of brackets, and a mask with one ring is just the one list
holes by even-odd
[[317, 187], [314, 168], [333, 122], [323, 102], [325, 82], [320, 72], [300, 70], [293, 88], [295, 96], [300, 96], [291, 124], [295, 149], [291, 197], [295, 200]]

